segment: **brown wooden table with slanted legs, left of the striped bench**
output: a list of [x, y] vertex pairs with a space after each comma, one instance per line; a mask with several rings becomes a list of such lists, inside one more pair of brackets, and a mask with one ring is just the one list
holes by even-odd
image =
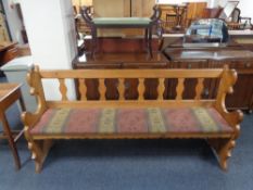
[[13, 134], [10, 129], [5, 111], [12, 105], [16, 100], [20, 100], [22, 111], [25, 111], [25, 104], [21, 94], [21, 85], [18, 84], [0, 84], [0, 121], [3, 126], [3, 135], [1, 137], [7, 138], [9, 145], [12, 150], [16, 169], [21, 168], [21, 161], [16, 150], [15, 141], [21, 137], [23, 131], [13, 138]]

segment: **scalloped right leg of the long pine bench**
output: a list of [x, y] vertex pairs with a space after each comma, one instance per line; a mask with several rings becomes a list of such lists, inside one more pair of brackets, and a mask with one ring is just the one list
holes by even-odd
[[231, 150], [236, 145], [235, 138], [207, 139], [207, 142], [215, 150], [222, 169], [227, 170], [227, 161], [231, 156]]

